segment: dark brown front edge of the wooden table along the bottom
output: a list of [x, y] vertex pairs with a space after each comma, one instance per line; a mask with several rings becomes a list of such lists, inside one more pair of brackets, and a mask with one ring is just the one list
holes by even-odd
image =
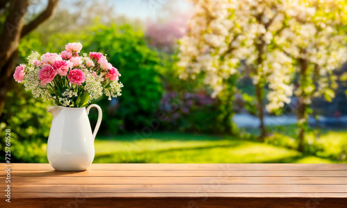
[[[9, 203], [8, 203], [9, 204]], [[23, 198], [11, 205], [0, 201], [0, 207], [119, 207], [119, 208], [265, 208], [320, 207], [346, 208], [345, 198]]]

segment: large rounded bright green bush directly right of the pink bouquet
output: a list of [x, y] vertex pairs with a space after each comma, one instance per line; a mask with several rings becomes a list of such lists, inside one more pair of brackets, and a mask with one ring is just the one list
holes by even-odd
[[125, 130], [146, 126], [146, 121], [151, 120], [158, 109], [163, 92], [158, 73], [163, 64], [158, 54], [146, 45], [142, 32], [127, 25], [96, 26], [89, 41], [85, 48], [107, 53], [127, 86], [122, 89], [119, 100], [111, 104], [105, 99], [99, 101], [105, 110], [103, 130], [115, 133], [119, 124]]

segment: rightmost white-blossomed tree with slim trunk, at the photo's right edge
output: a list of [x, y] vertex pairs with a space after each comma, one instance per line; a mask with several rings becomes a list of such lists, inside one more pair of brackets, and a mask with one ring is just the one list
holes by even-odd
[[286, 11], [288, 21], [275, 42], [294, 60], [298, 150], [303, 151], [312, 98], [334, 98], [337, 77], [332, 71], [346, 61], [346, 1], [291, 1]]

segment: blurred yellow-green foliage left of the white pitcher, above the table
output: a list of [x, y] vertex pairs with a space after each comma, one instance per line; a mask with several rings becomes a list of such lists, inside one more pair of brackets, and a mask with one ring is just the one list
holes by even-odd
[[[11, 130], [11, 162], [47, 162], [44, 150], [51, 115], [46, 110], [51, 106], [53, 103], [33, 98], [19, 85], [8, 92], [6, 106], [0, 116], [0, 132]], [[4, 139], [1, 139], [1, 150], [4, 149]]]

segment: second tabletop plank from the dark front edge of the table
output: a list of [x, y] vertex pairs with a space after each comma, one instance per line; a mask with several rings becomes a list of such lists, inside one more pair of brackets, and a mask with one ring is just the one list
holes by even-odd
[[[12, 177], [12, 184], [347, 184], [346, 177]], [[0, 177], [0, 184], [6, 184]]]

